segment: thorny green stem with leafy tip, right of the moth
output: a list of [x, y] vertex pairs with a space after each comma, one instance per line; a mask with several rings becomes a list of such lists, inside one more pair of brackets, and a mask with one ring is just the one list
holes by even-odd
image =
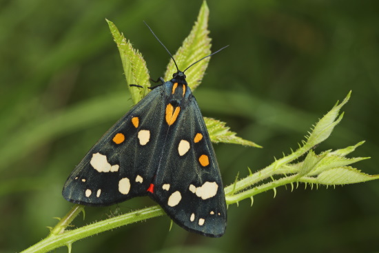
[[[348, 166], [351, 163], [368, 159], [368, 157], [356, 157], [351, 159], [345, 157], [345, 155], [354, 151], [358, 145], [361, 145], [362, 142], [334, 152], [327, 150], [318, 155], [311, 150], [314, 145], [325, 141], [334, 130], [334, 127], [340, 123], [342, 114], [340, 116], [338, 116], [338, 114], [342, 106], [349, 100], [350, 93], [351, 92], [349, 92], [342, 103], [334, 106], [334, 108], [318, 121], [314, 130], [307, 136], [307, 141], [303, 142], [303, 145], [300, 146], [298, 150], [281, 159], [275, 160], [274, 163], [263, 170], [259, 170], [254, 174], [250, 172], [249, 176], [245, 179], [236, 181], [233, 185], [225, 188], [227, 203], [238, 203], [238, 201], [252, 198], [254, 195], [267, 190], [274, 190], [276, 194], [276, 188], [278, 186], [292, 185], [293, 183], [299, 182], [306, 184], [311, 183], [312, 186], [313, 184], [345, 185], [348, 183], [361, 183], [379, 179], [379, 174], [371, 176]], [[300, 157], [306, 153], [307, 156], [305, 156], [304, 161], [292, 164], [293, 161], [300, 159]], [[276, 176], [276, 179], [274, 179], [273, 176]], [[270, 178], [272, 181], [254, 187], [256, 184], [267, 181], [267, 179]]]

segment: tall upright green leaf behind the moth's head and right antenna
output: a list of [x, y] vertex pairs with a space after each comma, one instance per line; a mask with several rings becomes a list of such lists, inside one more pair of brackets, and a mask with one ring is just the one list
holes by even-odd
[[[183, 45], [174, 54], [174, 59], [178, 68], [184, 70], [192, 63], [211, 54], [211, 39], [208, 37], [208, 17], [209, 9], [207, 3], [203, 1], [197, 21], [195, 22], [188, 37], [183, 41]], [[203, 59], [193, 65], [185, 72], [187, 83], [192, 91], [201, 83], [205, 70], [207, 69], [210, 57]], [[172, 74], [176, 72], [174, 61], [170, 60], [165, 72], [165, 80], [172, 79]]]

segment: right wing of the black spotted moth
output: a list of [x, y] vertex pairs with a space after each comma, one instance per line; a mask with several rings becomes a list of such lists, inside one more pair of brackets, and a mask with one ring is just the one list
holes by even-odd
[[186, 230], [222, 236], [227, 221], [223, 182], [192, 93], [181, 105], [181, 112], [167, 136], [170, 138], [166, 140], [156, 172], [152, 198]]

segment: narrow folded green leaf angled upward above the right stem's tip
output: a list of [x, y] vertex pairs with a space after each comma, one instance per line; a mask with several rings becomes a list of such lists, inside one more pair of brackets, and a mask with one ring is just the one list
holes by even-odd
[[[307, 139], [307, 145], [314, 146], [318, 143], [325, 141], [333, 131], [334, 127], [340, 123], [343, 113], [338, 117], [340, 109], [342, 108], [347, 101], [349, 101], [351, 92], [347, 94], [347, 97], [339, 105], [335, 105], [327, 114], [325, 114], [320, 121], [314, 127], [314, 130], [311, 132]], [[336, 118], [338, 119], [336, 120]]]

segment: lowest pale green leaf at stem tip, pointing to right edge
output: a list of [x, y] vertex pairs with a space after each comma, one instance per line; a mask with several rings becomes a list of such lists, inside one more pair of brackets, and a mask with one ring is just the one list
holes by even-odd
[[315, 183], [324, 185], [345, 185], [347, 183], [361, 183], [379, 179], [379, 175], [369, 175], [360, 172], [356, 168], [340, 167], [322, 172], [316, 177]]

